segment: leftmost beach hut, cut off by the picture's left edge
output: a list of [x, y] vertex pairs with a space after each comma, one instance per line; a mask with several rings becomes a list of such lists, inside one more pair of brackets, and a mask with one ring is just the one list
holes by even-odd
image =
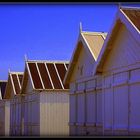
[[4, 99], [6, 84], [7, 81], [0, 81], [0, 136], [8, 136], [10, 127], [10, 102]]

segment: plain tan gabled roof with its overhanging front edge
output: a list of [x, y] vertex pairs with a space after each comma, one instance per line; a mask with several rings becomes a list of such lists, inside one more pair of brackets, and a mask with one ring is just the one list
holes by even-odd
[[65, 84], [69, 83], [70, 77], [74, 70], [74, 65], [76, 64], [80, 55], [81, 47], [84, 47], [92, 55], [93, 61], [96, 61], [106, 35], [107, 33], [104, 32], [80, 32], [76, 47], [71, 57], [68, 71], [63, 81]]

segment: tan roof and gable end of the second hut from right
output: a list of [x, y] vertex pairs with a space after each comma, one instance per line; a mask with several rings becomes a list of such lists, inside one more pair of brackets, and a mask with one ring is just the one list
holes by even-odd
[[[88, 35], [90, 37], [87, 37]], [[76, 48], [73, 52], [68, 71], [63, 81], [65, 84], [70, 83], [70, 81], [75, 81], [92, 75], [94, 63], [98, 57], [98, 53], [100, 52], [103, 42], [101, 44], [98, 40], [93, 42], [91, 36], [96, 37], [98, 35], [100, 35], [101, 38], [103, 37], [101, 33], [80, 32]], [[104, 39], [105, 37], [102, 38], [103, 41]], [[93, 45], [94, 43], [96, 44], [96, 47], [99, 43], [100, 47], [96, 48]]]

